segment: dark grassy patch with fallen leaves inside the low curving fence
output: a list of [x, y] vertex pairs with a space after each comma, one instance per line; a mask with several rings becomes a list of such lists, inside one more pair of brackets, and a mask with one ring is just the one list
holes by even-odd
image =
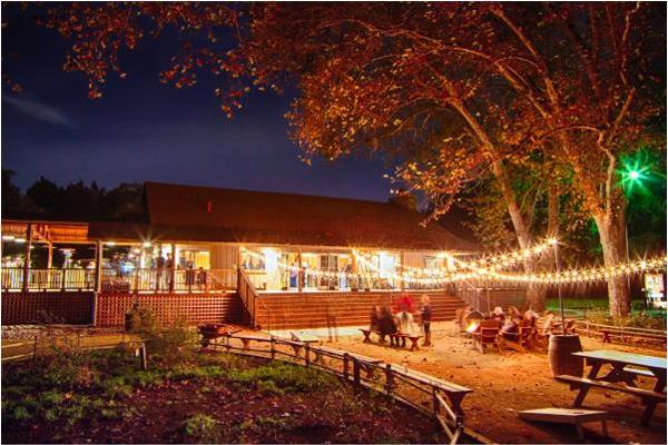
[[121, 348], [55, 348], [2, 366], [3, 443], [433, 443], [432, 419], [296, 365], [204, 353], [187, 333]]

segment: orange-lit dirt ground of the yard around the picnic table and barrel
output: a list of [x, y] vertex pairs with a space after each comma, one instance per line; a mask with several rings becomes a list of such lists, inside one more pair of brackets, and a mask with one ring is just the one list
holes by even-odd
[[[435, 329], [434, 329], [435, 327]], [[466, 427], [498, 443], [573, 443], [574, 429], [564, 425], [529, 423], [518, 417], [522, 409], [570, 407], [576, 392], [551, 378], [547, 353], [499, 354], [489, 349], [481, 354], [470, 340], [454, 334], [451, 322], [432, 327], [434, 346], [410, 353], [379, 344], [362, 343], [360, 333], [340, 332], [328, 346], [382, 358], [406, 367], [468, 386], [473, 393], [463, 402]], [[620, 345], [601, 345], [599, 339], [582, 338], [586, 350], [618, 349], [630, 353], [666, 356], [666, 352], [639, 349]], [[651, 388], [650, 378], [638, 380], [640, 387]], [[609, 437], [602, 436], [600, 423], [584, 425], [587, 442], [593, 443], [666, 443], [666, 405], [659, 405], [650, 426], [640, 426], [642, 406], [637, 397], [591, 389], [583, 407], [612, 413], [608, 423]]]

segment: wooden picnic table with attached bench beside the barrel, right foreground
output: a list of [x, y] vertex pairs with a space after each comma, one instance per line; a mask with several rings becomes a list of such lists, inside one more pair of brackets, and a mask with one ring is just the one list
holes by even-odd
[[[646, 425], [656, 405], [666, 403], [666, 358], [618, 350], [588, 350], [572, 354], [584, 358], [586, 365], [591, 366], [588, 376], [560, 375], [556, 379], [569, 384], [571, 389], [579, 389], [573, 402], [576, 407], [582, 405], [591, 387], [631, 394], [640, 397], [645, 405], [641, 424]], [[609, 365], [612, 369], [607, 374], [599, 374], [603, 365]], [[638, 388], [635, 382], [638, 376], [656, 378], [654, 388]]]

